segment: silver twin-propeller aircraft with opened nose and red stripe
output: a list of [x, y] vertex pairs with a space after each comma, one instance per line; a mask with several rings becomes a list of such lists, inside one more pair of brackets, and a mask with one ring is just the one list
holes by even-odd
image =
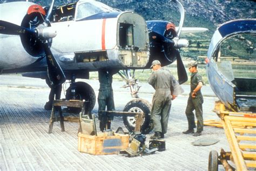
[[[173, 2], [181, 13], [178, 29], [171, 22], [145, 21], [137, 13], [97, 1], [62, 6], [54, 6], [52, 1], [45, 8], [32, 2], [0, 4], [0, 71], [48, 79], [52, 87], [70, 80], [66, 99], [86, 99], [93, 108], [93, 88], [76, 79], [89, 79], [90, 71], [120, 70], [118, 73], [136, 98], [125, 109], [133, 111], [136, 107], [137, 112], [143, 111], [142, 131], [148, 132], [150, 104], [138, 99], [135, 70], [149, 69], [156, 59], [163, 66], [177, 60], [179, 83], [187, 80], [179, 54], [181, 47], [188, 46], [187, 40], [179, 39], [184, 9], [179, 1]], [[134, 121], [124, 118], [129, 130], [134, 128]]]

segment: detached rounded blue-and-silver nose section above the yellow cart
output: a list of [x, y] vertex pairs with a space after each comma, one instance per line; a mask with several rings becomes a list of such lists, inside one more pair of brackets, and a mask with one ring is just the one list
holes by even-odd
[[[220, 101], [233, 112], [256, 112], [255, 52], [250, 51], [256, 43], [255, 37], [255, 18], [231, 20], [214, 32], [208, 49], [208, 81]], [[230, 38], [233, 39], [228, 42], [227, 49], [237, 53], [233, 53], [231, 60], [225, 60], [227, 57], [221, 49], [227, 50], [224, 40]], [[234, 50], [235, 47], [238, 49]], [[235, 59], [239, 56], [247, 60]], [[232, 65], [236, 60], [238, 64]], [[242, 73], [235, 72], [238, 67], [244, 67]]]

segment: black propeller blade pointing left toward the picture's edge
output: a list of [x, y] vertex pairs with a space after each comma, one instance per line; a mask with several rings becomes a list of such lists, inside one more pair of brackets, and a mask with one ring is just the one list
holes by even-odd
[[26, 33], [36, 33], [35, 30], [30, 30], [27, 28], [23, 28], [22, 26], [5, 22], [4, 20], [0, 20], [0, 33], [4, 35], [21, 35]]

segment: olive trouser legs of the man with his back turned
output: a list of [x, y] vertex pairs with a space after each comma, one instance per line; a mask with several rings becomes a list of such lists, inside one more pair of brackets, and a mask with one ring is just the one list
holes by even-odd
[[152, 100], [151, 119], [154, 124], [154, 132], [167, 132], [168, 119], [171, 110], [172, 96], [170, 89], [156, 90]]

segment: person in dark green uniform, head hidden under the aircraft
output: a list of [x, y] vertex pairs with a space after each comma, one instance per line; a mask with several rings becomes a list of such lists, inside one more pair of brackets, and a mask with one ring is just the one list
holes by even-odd
[[111, 120], [113, 116], [107, 116], [105, 111], [114, 111], [114, 98], [113, 98], [113, 89], [112, 89], [112, 76], [117, 73], [113, 70], [99, 70], [99, 94], [98, 94], [98, 119], [99, 119], [99, 128], [100, 131], [111, 128]]

